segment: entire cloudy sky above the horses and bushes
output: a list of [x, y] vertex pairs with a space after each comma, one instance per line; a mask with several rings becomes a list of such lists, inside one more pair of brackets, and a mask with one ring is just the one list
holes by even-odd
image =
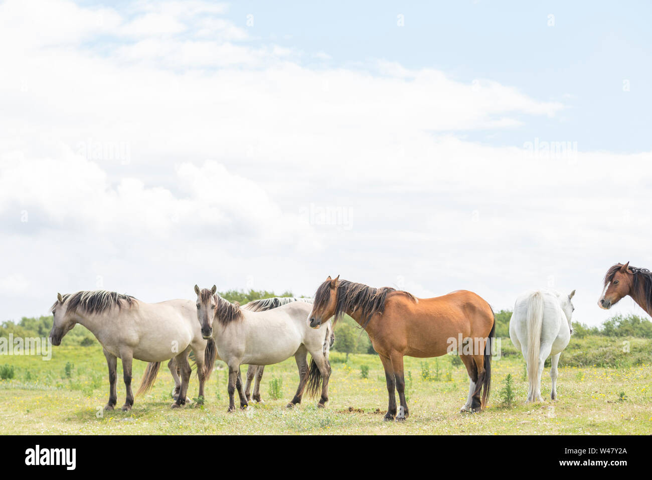
[[0, 3], [0, 321], [327, 276], [597, 306], [652, 268], [649, 3]]

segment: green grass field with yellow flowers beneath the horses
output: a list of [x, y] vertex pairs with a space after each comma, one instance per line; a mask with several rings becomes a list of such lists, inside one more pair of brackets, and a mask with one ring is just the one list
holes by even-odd
[[[505, 345], [505, 342], [503, 342]], [[512, 347], [513, 348], [513, 347]], [[503, 349], [509, 353], [509, 349]], [[463, 366], [451, 357], [406, 357], [406, 394], [410, 416], [404, 423], [383, 422], [387, 389], [376, 355], [331, 353], [333, 374], [327, 408], [304, 398], [295, 409], [285, 405], [297, 387], [293, 359], [265, 368], [263, 404], [227, 413], [228, 374], [218, 362], [207, 386], [203, 406], [171, 409], [173, 381], [162, 368], [153, 390], [137, 397], [134, 408], [103, 411], [108, 398], [108, 374], [102, 349], [62, 346], [52, 360], [40, 357], [0, 357], [14, 366], [14, 378], [0, 381], [0, 431], [3, 434], [650, 434], [652, 433], [652, 367], [622, 368], [564, 366], [562, 353], [555, 402], [525, 404], [527, 381], [520, 355], [503, 355], [493, 363], [492, 396], [482, 413], [460, 414], [468, 380]], [[571, 358], [571, 357], [569, 357]], [[368, 377], [361, 370], [368, 368]], [[118, 362], [118, 404], [125, 400]], [[134, 362], [134, 386], [145, 368]], [[243, 367], [243, 374], [246, 367]], [[437, 372], [439, 378], [437, 379]], [[512, 374], [516, 400], [501, 403], [500, 390]], [[270, 397], [270, 381], [282, 380], [281, 397]], [[188, 396], [196, 395], [193, 373]], [[134, 391], [136, 388], [134, 388]], [[544, 370], [542, 394], [550, 398], [549, 370]], [[236, 397], [237, 404], [237, 397]]]

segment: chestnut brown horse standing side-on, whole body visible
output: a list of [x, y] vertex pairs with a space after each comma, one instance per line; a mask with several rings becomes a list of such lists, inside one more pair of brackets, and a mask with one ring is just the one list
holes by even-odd
[[[491, 387], [494, 312], [480, 296], [458, 290], [436, 298], [417, 298], [391, 287], [327, 278], [314, 297], [310, 327], [344, 314], [366, 330], [385, 368], [389, 407], [385, 421], [408, 417], [403, 357], [439, 357], [456, 350], [469, 374], [469, 396], [462, 411], [480, 411]], [[398, 391], [400, 408], [396, 411]]]

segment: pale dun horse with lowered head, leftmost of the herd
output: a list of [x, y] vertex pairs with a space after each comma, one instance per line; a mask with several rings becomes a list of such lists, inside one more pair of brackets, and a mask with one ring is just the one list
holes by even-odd
[[199, 394], [203, 396], [205, 381], [215, 363], [215, 343], [201, 336], [192, 300], [167, 300], [149, 304], [133, 296], [106, 290], [78, 291], [61, 295], [50, 308], [53, 325], [50, 339], [61, 345], [61, 339], [77, 323], [91, 330], [102, 345], [109, 368], [109, 400], [105, 410], [113, 410], [117, 402], [117, 359], [123, 363], [126, 400], [123, 410], [134, 405], [131, 389], [132, 360], [151, 362], [141, 381], [138, 393], [153, 385], [160, 362], [175, 359], [181, 370], [181, 387], [172, 408], [186, 403], [190, 364], [188, 352], [192, 351], [200, 380]]

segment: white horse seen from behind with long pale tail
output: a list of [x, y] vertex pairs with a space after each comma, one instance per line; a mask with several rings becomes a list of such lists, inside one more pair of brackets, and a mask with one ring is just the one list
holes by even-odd
[[571, 295], [563, 295], [542, 289], [526, 291], [516, 298], [509, 321], [509, 337], [526, 359], [529, 381], [527, 402], [543, 402], [541, 374], [543, 364], [550, 355], [550, 398], [557, 398], [557, 364], [561, 351], [571, 340], [571, 317], [575, 310], [571, 303], [573, 295], [574, 290]]

